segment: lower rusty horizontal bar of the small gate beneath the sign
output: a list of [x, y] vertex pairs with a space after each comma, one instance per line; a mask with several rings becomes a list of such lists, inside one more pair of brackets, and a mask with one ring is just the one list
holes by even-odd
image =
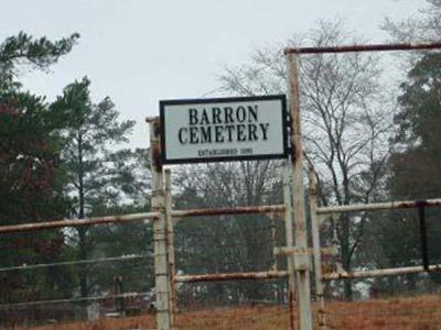
[[219, 273], [219, 274], [202, 274], [202, 275], [176, 275], [176, 283], [192, 282], [223, 282], [223, 280], [240, 280], [240, 279], [270, 279], [287, 277], [287, 271], [268, 271], [252, 273]]

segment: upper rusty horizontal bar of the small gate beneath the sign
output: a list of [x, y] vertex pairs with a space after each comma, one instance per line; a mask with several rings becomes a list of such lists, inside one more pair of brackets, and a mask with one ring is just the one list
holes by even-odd
[[252, 215], [252, 213], [273, 213], [273, 212], [284, 212], [284, 205], [248, 206], [248, 207], [218, 208], [218, 209], [174, 210], [172, 211], [172, 217], [184, 218], [184, 217]]

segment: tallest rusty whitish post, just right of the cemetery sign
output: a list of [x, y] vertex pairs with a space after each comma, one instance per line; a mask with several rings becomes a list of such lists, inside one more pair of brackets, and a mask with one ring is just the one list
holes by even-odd
[[303, 150], [300, 123], [298, 55], [287, 54], [289, 73], [289, 112], [291, 114], [292, 207], [295, 221], [294, 266], [299, 301], [299, 329], [312, 330], [310, 262], [304, 212]]

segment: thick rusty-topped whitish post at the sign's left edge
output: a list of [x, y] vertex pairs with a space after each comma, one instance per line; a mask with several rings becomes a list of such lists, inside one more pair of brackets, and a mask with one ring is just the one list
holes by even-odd
[[170, 330], [169, 305], [169, 265], [166, 252], [166, 217], [165, 194], [160, 152], [159, 120], [149, 120], [150, 123], [150, 164], [152, 172], [152, 211], [160, 212], [160, 217], [153, 221], [153, 249], [154, 249], [154, 282], [155, 282], [155, 308], [157, 328]]

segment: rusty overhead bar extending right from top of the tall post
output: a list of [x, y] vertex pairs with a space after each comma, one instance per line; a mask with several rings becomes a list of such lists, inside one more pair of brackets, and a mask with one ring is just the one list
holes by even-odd
[[324, 53], [361, 53], [361, 52], [396, 52], [396, 51], [421, 51], [439, 50], [441, 43], [402, 43], [402, 44], [368, 44], [325, 47], [288, 47], [287, 54], [324, 54]]

